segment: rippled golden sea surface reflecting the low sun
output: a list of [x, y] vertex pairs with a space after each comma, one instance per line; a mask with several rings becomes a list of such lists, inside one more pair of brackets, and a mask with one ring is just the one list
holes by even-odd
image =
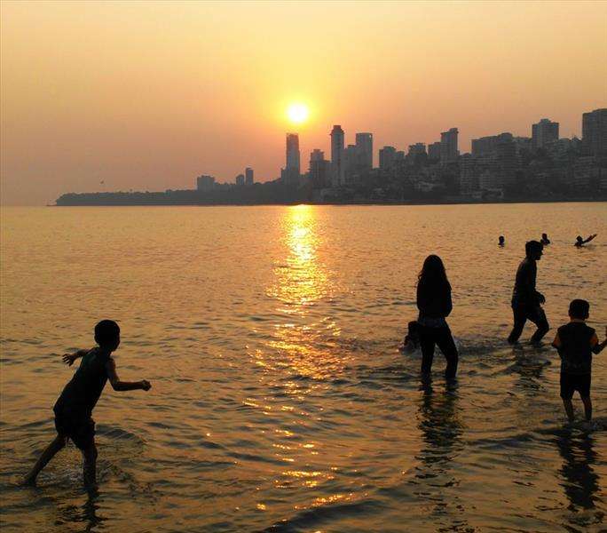
[[[607, 351], [599, 427], [584, 431], [564, 428], [554, 350], [504, 340], [524, 242], [542, 231], [548, 341], [572, 298], [590, 300], [603, 338], [605, 203], [3, 208], [1, 221], [3, 532], [607, 527]], [[423, 388], [421, 355], [397, 349], [429, 253], [453, 285], [453, 387], [441, 355]], [[60, 355], [93, 346], [103, 318], [122, 328], [121, 378], [153, 388], [106, 387], [98, 494], [71, 444], [20, 488], [74, 371]]]

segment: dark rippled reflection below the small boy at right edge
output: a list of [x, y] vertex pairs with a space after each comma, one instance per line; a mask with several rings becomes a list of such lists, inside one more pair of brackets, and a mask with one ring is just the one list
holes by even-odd
[[570, 432], [564, 432], [556, 438], [556, 446], [564, 460], [560, 474], [565, 496], [572, 506], [594, 508], [595, 494], [599, 491], [599, 475], [593, 469], [598, 457], [593, 449], [592, 435], [573, 436]]

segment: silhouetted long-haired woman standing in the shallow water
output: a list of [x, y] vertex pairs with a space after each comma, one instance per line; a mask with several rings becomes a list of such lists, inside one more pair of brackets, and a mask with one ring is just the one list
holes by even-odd
[[447, 279], [443, 261], [437, 255], [430, 255], [423, 262], [417, 282], [417, 308], [420, 311], [417, 322], [422, 347], [422, 377], [430, 376], [434, 346], [438, 345], [447, 363], [445, 378], [455, 378], [457, 347], [445, 321], [453, 309], [451, 284]]

